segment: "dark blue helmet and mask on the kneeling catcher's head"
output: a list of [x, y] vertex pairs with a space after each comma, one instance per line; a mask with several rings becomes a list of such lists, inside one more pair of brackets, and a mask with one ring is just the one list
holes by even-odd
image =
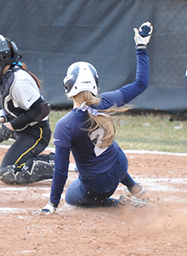
[[[8, 47], [8, 42], [12, 45], [11, 49]], [[0, 76], [4, 67], [17, 62], [20, 58], [16, 44], [0, 35]]]

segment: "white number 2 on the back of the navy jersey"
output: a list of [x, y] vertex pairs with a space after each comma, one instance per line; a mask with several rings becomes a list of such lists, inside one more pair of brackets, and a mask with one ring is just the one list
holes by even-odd
[[102, 154], [107, 148], [99, 148], [98, 145], [101, 143], [101, 139], [104, 136], [103, 129], [99, 128], [90, 134], [91, 141], [94, 141], [94, 153], [96, 156]]

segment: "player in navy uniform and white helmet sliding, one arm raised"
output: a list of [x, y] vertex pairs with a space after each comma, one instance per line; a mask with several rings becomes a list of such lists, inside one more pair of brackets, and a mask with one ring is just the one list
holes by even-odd
[[[50, 201], [42, 212], [52, 213], [59, 205], [68, 175], [70, 151], [76, 160], [79, 177], [65, 193], [65, 201], [77, 206], [110, 206], [110, 196], [119, 183], [141, 197], [145, 190], [127, 172], [127, 157], [114, 141], [112, 113], [127, 110], [125, 104], [148, 87], [149, 58], [146, 45], [152, 33], [150, 22], [134, 29], [137, 71], [132, 84], [98, 96], [98, 74], [87, 62], [73, 63], [67, 70], [64, 89], [74, 108], [59, 119], [54, 131], [55, 165]], [[124, 197], [120, 202], [126, 203]]]

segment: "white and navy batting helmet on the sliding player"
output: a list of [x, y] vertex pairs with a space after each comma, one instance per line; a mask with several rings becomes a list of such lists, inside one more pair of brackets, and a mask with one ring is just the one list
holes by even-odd
[[89, 90], [97, 96], [98, 80], [98, 73], [94, 66], [88, 62], [78, 61], [68, 67], [63, 87], [68, 97], [76, 96], [84, 90]]

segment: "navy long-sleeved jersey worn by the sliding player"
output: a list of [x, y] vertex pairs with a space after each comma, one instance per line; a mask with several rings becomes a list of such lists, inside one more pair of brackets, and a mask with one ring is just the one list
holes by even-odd
[[[149, 58], [146, 50], [137, 50], [137, 73], [132, 84], [119, 90], [105, 92], [100, 95], [101, 102], [96, 109], [121, 107], [139, 96], [147, 87], [149, 79]], [[102, 130], [93, 131], [88, 137], [86, 121], [88, 112], [81, 108], [72, 109], [65, 117], [59, 119], [54, 131], [55, 166], [50, 200], [59, 203], [67, 178], [70, 151], [81, 177], [95, 177], [99, 173], [108, 172], [114, 166], [120, 148], [116, 142], [108, 148], [98, 148]]]

